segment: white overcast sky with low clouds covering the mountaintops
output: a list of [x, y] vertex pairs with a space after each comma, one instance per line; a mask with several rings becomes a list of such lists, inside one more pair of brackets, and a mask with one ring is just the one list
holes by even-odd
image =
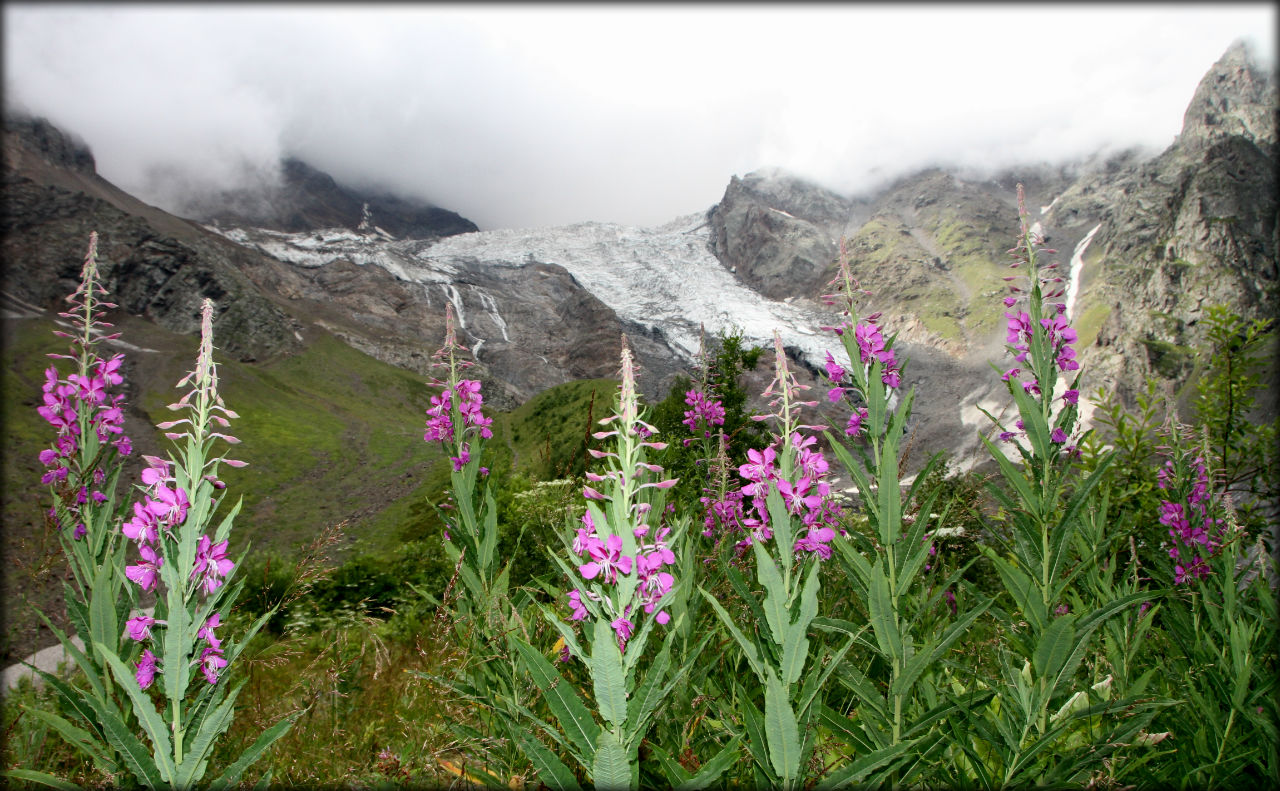
[[484, 229], [658, 224], [781, 166], [845, 193], [929, 164], [1162, 148], [1261, 4], [4, 5], [5, 104], [165, 206], [294, 155]]

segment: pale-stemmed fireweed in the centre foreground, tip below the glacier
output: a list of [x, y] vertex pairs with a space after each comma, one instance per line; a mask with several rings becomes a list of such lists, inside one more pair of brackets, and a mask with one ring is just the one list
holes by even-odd
[[[573, 529], [572, 539], [564, 538], [564, 554], [553, 555], [570, 580], [568, 622], [553, 608], [544, 608], [547, 619], [557, 628], [563, 643], [562, 660], [581, 662], [590, 675], [588, 687], [598, 715], [573, 692], [561, 671], [540, 650], [512, 636], [531, 677], [559, 721], [562, 744], [572, 744], [589, 779], [602, 788], [635, 788], [639, 781], [639, 749], [649, 731], [653, 714], [675, 681], [671, 650], [682, 609], [673, 618], [668, 607], [675, 599], [677, 568], [675, 548], [681, 541], [685, 523], [669, 525], [666, 513], [666, 491], [676, 484], [662, 477], [662, 467], [646, 461], [646, 452], [660, 451], [666, 443], [655, 442], [657, 430], [644, 421], [636, 393], [635, 365], [626, 338], [622, 339], [622, 371], [614, 413], [600, 421], [603, 430], [595, 439], [607, 440], [609, 451], [591, 456], [605, 465], [603, 474], [590, 475], [596, 486], [586, 488], [586, 513], [582, 526]], [[573, 623], [581, 625], [581, 639]], [[657, 657], [645, 662], [649, 636], [655, 625], [662, 630], [663, 645]], [[516, 631], [516, 630], [513, 630]], [[689, 659], [675, 673], [682, 675], [705, 646], [701, 640]], [[648, 690], [648, 692], [644, 692]], [[644, 692], [644, 694], [641, 694]], [[736, 749], [737, 745], [733, 745]], [[559, 778], [572, 777], [558, 759], [549, 759], [545, 747], [535, 745], [529, 751], [535, 758], [539, 774], [562, 785]], [[554, 772], [547, 768], [553, 768]], [[544, 773], [545, 772], [545, 773]]]

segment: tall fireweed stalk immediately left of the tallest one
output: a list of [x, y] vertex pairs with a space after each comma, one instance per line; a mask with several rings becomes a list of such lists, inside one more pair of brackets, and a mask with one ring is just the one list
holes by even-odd
[[[964, 570], [952, 572], [932, 595], [925, 591], [922, 570], [929, 562], [933, 531], [946, 523], [947, 512], [932, 513], [932, 497], [918, 502], [916, 485], [905, 495], [902, 491], [901, 440], [915, 390], [900, 394], [904, 361], [893, 348], [895, 339], [884, 337], [878, 315], [859, 319], [856, 302], [864, 292], [844, 251], [838, 264], [831, 283], [833, 293], [826, 300], [841, 307], [842, 319], [827, 329], [841, 339], [846, 361], [827, 353], [827, 399], [847, 406], [850, 416], [842, 436], [828, 431], [827, 439], [850, 471], [868, 521], [865, 535], [854, 531], [849, 541], [837, 543], [838, 558], [855, 595], [867, 607], [877, 664], [887, 667], [888, 673], [886, 677], [873, 667], [846, 669], [844, 681], [860, 704], [856, 721], [847, 710], [823, 709], [824, 723], [844, 736], [849, 751], [859, 754], [828, 782], [911, 783], [925, 768], [913, 755], [938, 746], [941, 733], [934, 726], [954, 712], [954, 701], [938, 700], [922, 689], [936, 689], [940, 659], [986, 607], [955, 612], [941, 631], [931, 630], [931, 619], [922, 618], [942, 607], [946, 591]], [[932, 458], [916, 475], [916, 484], [927, 480], [937, 463], [938, 457]], [[955, 607], [954, 594], [947, 603]], [[867, 628], [837, 618], [828, 618], [824, 626], [851, 635]]]

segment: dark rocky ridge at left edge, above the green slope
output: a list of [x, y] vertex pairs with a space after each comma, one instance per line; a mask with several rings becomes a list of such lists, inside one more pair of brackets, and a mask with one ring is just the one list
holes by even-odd
[[122, 310], [195, 333], [209, 297], [228, 353], [257, 360], [297, 348], [294, 321], [242, 271], [251, 266], [243, 250], [173, 218], [157, 228], [128, 211], [133, 198], [101, 179], [92, 154], [49, 122], [6, 120], [5, 165], [0, 248], [4, 288], [13, 297], [61, 310], [96, 230], [104, 285]]

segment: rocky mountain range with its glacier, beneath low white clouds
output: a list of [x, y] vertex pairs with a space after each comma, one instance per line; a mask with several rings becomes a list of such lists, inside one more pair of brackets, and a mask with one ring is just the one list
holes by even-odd
[[[987, 366], [1002, 355], [1019, 182], [1061, 251], [1091, 389], [1130, 393], [1156, 375], [1178, 390], [1193, 375], [1206, 305], [1274, 312], [1275, 91], [1274, 74], [1236, 45], [1201, 81], [1181, 134], [1153, 157], [997, 174], [932, 168], [860, 196], [764, 169], [731, 178], [707, 212], [654, 228], [477, 232], [453, 212], [339, 184], [296, 159], [274, 187], [192, 198], [198, 221], [183, 221], [100, 179], [82, 146], [26, 122], [6, 127], [5, 252], [19, 261], [8, 274], [17, 297], [52, 306], [78, 269], [74, 248], [105, 223], [108, 285], [131, 312], [191, 332], [193, 305], [214, 296], [225, 348], [242, 358], [296, 353], [320, 328], [424, 374], [448, 301], [509, 406], [611, 375], [622, 333], [650, 371], [650, 396], [689, 369], [703, 332], [732, 326], [762, 344], [777, 329], [817, 371], [835, 346], [817, 328], [831, 324], [820, 294], [844, 241], [870, 292], [864, 311], [883, 314], [916, 367], [973, 371], [948, 372], [965, 393], [937, 407], [968, 431], [956, 421], [987, 397]], [[925, 404], [922, 421], [932, 419]]]

